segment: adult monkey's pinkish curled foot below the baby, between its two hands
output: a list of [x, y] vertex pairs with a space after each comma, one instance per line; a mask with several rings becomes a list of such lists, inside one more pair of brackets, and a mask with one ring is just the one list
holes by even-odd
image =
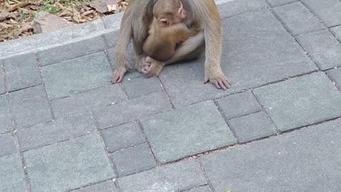
[[141, 63], [141, 68], [138, 69], [147, 78], [153, 76], [158, 77], [158, 75], [161, 73], [161, 70], [163, 69], [163, 63], [147, 56], [144, 59], [144, 62]]

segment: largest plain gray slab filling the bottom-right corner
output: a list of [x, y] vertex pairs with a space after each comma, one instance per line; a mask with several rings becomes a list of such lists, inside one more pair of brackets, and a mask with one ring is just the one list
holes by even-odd
[[340, 191], [341, 122], [271, 137], [201, 159], [215, 191]]

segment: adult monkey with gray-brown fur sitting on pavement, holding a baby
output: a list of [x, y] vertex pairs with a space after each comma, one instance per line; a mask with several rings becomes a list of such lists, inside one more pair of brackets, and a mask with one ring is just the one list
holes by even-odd
[[188, 28], [201, 31], [183, 42], [175, 55], [166, 62], [158, 62], [147, 57], [142, 50], [148, 36], [148, 26], [153, 21], [153, 5], [158, 0], [131, 0], [121, 21], [119, 41], [114, 49], [116, 70], [112, 82], [121, 82], [129, 69], [126, 51], [132, 38], [136, 55], [136, 68], [147, 77], [157, 76], [164, 65], [181, 60], [199, 57], [205, 51], [205, 82], [212, 82], [218, 89], [226, 90], [229, 82], [220, 66], [222, 55], [222, 24], [214, 0], [181, 0], [183, 8], [188, 11], [184, 19]]

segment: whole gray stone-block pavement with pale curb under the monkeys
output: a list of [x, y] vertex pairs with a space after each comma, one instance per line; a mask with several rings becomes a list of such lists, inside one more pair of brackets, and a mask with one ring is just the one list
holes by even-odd
[[341, 1], [218, 7], [227, 91], [111, 85], [119, 16], [0, 43], [0, 191], [340, 191]]

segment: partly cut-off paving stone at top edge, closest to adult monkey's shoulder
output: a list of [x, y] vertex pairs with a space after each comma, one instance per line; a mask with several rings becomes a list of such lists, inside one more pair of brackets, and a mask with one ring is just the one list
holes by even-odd
[[221, 4], [218, 6], [218, 10], [221, 18], [227, 18], [265, 6], [268, 6], [265, 0], [238, 0]]

